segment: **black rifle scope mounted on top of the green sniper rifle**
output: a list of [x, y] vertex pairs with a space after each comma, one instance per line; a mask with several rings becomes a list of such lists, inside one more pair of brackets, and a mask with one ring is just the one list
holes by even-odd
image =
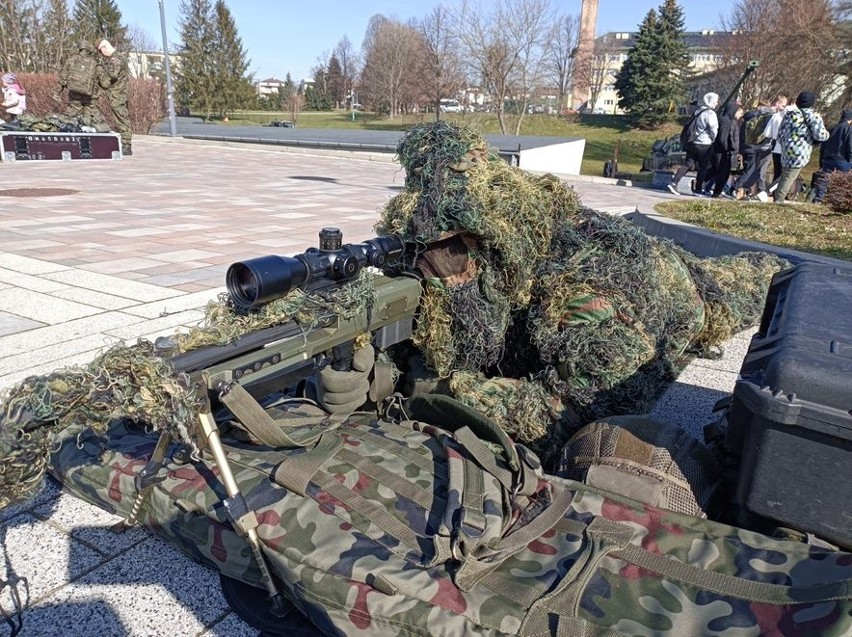
[[319, 248], [308, 248], [294, 257], [272, 254], [232, 263], [225, 274], [225, 284], [234, 305], [251, 309], [296, 287], [348, 281], [365, 265], [381, 268], [399, 257], [404, 247], [403, 240], [396, 235], [343, 245], [339, 229], [323, 228], [319, 233]]

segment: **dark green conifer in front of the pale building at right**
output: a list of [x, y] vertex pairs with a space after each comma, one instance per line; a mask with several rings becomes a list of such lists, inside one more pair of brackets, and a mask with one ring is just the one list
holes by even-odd
[[618, 72], [618, 105], [643, 128], [661, 124], [683, 100], [688, 66], [683, 11], [676, 0], [664, 0], [659, 14], [652, 9], [645, 16]]

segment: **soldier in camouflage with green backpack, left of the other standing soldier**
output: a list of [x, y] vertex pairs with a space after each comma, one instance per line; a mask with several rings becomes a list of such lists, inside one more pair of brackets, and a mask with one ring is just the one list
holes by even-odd
[[109, 126], [97, 107], [100, 87], [97, 83], [98, 60], [95, 47], [91, 42], [80, 40], [77, 52], [69, 57], [59, 72], [59, 84], [53, 94], [53, 101], [59, 104], [62, 93], [68, 90], [68, 107], [65, 116], [76, 120], [80, 126], [91, 127], [97, 131], [108, 131]]

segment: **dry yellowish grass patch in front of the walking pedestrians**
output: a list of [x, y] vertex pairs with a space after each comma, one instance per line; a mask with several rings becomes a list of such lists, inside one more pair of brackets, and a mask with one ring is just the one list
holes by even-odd
[[852, 214], [822, 205], [690, 199], [658, 204], [655, 210], [727, 235], [852, 261]]

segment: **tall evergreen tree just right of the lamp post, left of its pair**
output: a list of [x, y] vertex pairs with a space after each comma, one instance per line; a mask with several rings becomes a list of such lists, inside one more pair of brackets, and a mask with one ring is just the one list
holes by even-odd
[[210, 0], [182, 0], [180, 5], [181, 63], [177, 72], [177, 102], [208, 119], [214, 108], [212, 60], [213, 8]]

